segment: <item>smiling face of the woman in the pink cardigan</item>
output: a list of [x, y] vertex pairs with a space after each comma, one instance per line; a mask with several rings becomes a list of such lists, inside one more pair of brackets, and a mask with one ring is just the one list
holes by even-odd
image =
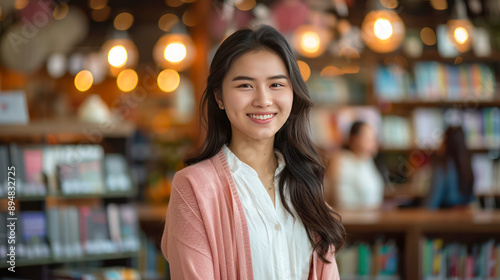
[[232, 63], [218, 97], [231, 122], [232, 141], [274, 139], [290, 115], [293, 89], [281, 58], [261, 50]]

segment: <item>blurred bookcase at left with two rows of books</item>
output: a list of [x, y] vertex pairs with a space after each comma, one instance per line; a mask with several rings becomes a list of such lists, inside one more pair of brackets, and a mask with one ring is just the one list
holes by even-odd
[[[51, 279], [61, 267], [137, 268], [138, 188], [126, 160], [134, 132], [131, 123], [71, 118], [0, 126], [0, 165], [16, 167], [15, 266], [29, 267], [16, 277]], [[0, 179], [3, 223], [10, 199]], [[6, 270], [7, 239], [0, 241]]]

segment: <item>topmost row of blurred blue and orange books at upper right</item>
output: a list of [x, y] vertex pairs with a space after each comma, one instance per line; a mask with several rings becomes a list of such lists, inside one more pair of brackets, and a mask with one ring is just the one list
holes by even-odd
[[495, 72], [484, 63], [450, 65], [437, 61], [419, 62], [414, 80], [399, 64], [379, 65], [374, 72], [375, 93], [381, 100], [459, 101], [493, 100]]

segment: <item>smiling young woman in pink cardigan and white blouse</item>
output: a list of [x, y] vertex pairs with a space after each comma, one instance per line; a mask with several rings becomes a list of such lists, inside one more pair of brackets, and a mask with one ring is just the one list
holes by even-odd
[[274, 28], [220, 45], [201, 104], [206, 139], [172, 183], [162, 251], [173, 279], [339, 278], [345, 231], [324, 201], [312, 105]]

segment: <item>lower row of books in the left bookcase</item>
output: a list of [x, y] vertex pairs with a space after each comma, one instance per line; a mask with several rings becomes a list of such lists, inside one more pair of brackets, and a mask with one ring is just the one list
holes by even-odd
[[[0, 213], [0, 259], [7, 258], [7, 213]], [[139, 225], [133, 204], [106, 207], [60, 206], [20, 212], [15, 227], [16, 258], [68, 259], [87, 255], [136, 252]], [[12, 242], [12, 241], [11, 241]]]

